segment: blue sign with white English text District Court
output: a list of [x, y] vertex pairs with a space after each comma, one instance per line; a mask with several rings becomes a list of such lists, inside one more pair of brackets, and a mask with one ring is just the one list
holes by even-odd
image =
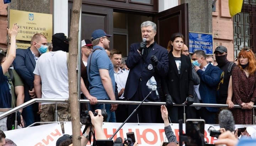
[[213, 35], [208, 33], [189, 32], [189, 52], [203, 50], [206, 54], [213, 55]]

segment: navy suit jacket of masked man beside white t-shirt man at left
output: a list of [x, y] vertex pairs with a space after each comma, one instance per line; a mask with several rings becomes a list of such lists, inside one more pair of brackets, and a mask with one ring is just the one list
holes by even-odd
[[23, 83], [24, 83], [24, 101], [29, 101], [30, 95], [28, 90], [34, 88], [34, 68], [36, 66], [36, 61], [34, 56], [30, 50], [30, 47], [27, 49], [17, 49], [16, 50], [16, 58], [13, 62], [14, 69], [20, 75]]

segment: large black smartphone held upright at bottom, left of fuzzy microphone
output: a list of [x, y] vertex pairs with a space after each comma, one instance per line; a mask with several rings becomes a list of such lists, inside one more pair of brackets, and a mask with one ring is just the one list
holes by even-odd
[[204, 124], [203, 119], [186, 120], [186, 146], [204, 146]]

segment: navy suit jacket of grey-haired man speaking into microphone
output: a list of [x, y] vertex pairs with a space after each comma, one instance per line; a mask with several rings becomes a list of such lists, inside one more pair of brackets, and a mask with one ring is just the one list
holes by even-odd
[[[139, 45], [140, 43], [134, 43], [130, 46], [129, 55], [126, 60], [126, 65], [130, 69], [124, 91], [124, 97], [127, 99], [132, 98], [137, 90], [142, 90], [142, 96], [145, 98], [150, 92], [146, 86], [148, 80], [154, 76], [157, 86], [159, 86], [161, 76], [165, 76], [168, 71], [168, 52], [165, 48], [155, 43], [144, 60], [137, 51]], [[158, 64], [154, 68], [154, 72], [146, 69], [150, 64], [152, 65], [150, 60], [152, 55], [158, 58]], [[138, 89], [140, 78], [142, 79], [142, 88]], [[152, 92], [146, 101], [160, 101], [160, 99], [157, 98], [155, 92]]]

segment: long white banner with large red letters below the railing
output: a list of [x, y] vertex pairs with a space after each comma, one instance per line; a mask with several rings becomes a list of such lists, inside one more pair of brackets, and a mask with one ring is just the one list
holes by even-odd
[[[103, 131], [109, 139], [114, 132], [119, 128], [122, 123], [103, 123]], [[219, 130], [218, 125], [204, 125], [204, 138], [209, 144], [213, 144], [215, 137], [210, 137], [208, 133], [209, 126], [213, 126], [216, 130]], [[235, 125], [236, 128], [242, 128], [254, 125]], [[64, 123], [65, 134], [72, 135], [71, 122]], [[178, 138], [179, 126], [178, 124], [171, 124], [171, 128]], [[84, 126], [81, 128], [82, 132]], [[114, 136], [113, 140], [117, 137], [126, 138], [126, 133], [134, 132], [135, 139], [138, 140], [140, 146], [159, 146], [162, 140], [167, 141], [165, 137], [164, 124], [161, 123], [126, 123]], [[55, 146], [56, 141], [62, 136], [62, 130], [60, 124], [47, 124], [40, 126], [33, 126], [29, 128], [4, 131], [6, 138], [13, 140], [18, 146]], [[185, 124], [183, 124], [183, 133], [185, 133]], [[88, 143], [87, 146], [90, 146]]]

